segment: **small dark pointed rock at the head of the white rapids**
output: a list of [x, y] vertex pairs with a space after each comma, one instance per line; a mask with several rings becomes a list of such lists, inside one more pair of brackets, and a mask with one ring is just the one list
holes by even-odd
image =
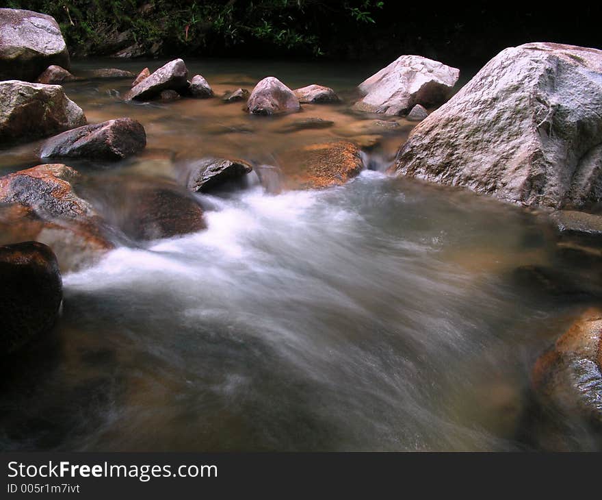
[[211, 192], [240, 180], [252, 170], [252, 166], [244, 160], [204, 158], [192, 164], [186, 185], [194, 192]]

